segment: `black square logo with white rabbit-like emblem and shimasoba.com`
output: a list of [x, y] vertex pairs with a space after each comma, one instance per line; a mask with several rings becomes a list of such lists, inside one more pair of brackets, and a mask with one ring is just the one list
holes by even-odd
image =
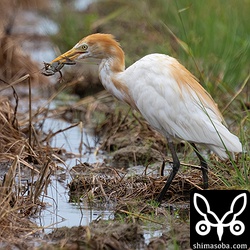
[[192, 249], [248, 249], [250, 194], [246, 190], [199, 190], [190, 197]]

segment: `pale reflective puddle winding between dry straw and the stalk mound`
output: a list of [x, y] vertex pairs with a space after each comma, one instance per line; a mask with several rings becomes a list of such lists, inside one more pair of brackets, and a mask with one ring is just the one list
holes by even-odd
[[[68, 128], [71, 124], [60, 119], [46, 119], [44, 131], [58, 131]], [[79, 146], [82, 145], [81, 151]], [[87, 145], [88, 148], [84, 147]], [[104, 156], [95, 155], [95, 148], [98, 146], [94, 138], [79, 126], [73, 127], [65, 132], [58, 133], [53, 137], [52, 147], [62, 148], [71, 153], [71, 157], [66, 159], [61, 165], [63, 170], [59, 170], [52, 176], [48, 193], [43, 201], [46, 209], [42, 210], [36, 222], [39, 226], [54, 229], [57, 227], [88, 225], [92, 220], [98, 218], [112, 219], [111, 210], [93, 209], [87, 203], [69, 203], [67, 183], [70, 182], [70, 169], [79, 162], [96, 163], [102, 162]], [[89, 148], [92, 150], [90, 151]], [[49, 230], [46, 230], [49, 231]]]

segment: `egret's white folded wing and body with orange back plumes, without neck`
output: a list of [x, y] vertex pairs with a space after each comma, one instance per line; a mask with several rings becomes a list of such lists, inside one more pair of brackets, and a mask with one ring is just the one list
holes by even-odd
[[227, 157], [224, 145], [230, 152], [242, 150], [210, 95], [176, 59], [151, 54], [118, 78], [144, 118], [167, 138], [206, 144], [221, 158]]

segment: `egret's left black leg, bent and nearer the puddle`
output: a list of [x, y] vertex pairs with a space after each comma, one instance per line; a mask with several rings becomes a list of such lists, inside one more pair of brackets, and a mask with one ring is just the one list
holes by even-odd
[[175, 175], [177, 174], [179, 168], [180, 168], [180, 161], [177, 157], [177, 154], [175, 152], [175, 149], [174, 149], [174, 144], [173, 142], [168, 142], [168, 147], [169, 147], [169, 150], [171, 152], [171, 155], [172, 155], [172, 158], [173, 158], [173, 169], [172, 169], [172, 172], [170, 173], [169, 177], [168, 177], [168, 180], [165, 184], [165, 186], [163, 187], [163, 189], [161, 190], [159, 196], [157, 197], [157, 201], [159, 203], [161, 203], [163, 197], [165, 196], [167, 190], [169, 189], [169, 186], [171, 185]]

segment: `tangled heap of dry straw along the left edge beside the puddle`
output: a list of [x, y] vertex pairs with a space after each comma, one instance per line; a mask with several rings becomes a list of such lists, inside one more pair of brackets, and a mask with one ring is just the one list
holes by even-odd
[[[55, 165], [51, 160], [52, 150], [48, 146], [41, 147], [35, 137], [31, 98], [29, 116], [21, 120], [17, 114], [18, 96], [14, 86], [29, 82], [29, 79], [29, 75], [25, 75], [0, 88], [0, 92], [12, 88], [15, 100], [12, 107], [8, 98], [0, 98], [0, 169], [3, 175], [0, 181], [0, 239], [6, 242], [36, 227], [27, 215], [43, 205], [40, 197], [47, 189]], [[31, 97], [31, 92], [29, 95]], [[22, 181], [23, 173], [26, 173], [27, 183]]]

